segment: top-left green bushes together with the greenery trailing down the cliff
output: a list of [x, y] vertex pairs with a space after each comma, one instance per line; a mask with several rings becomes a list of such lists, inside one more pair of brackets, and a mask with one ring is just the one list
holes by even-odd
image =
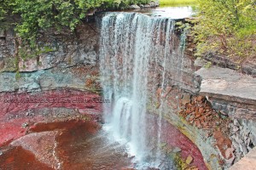
[[[26, 60], [54, 49], [39, 47], [38, 32], [64, 28], [74, 31], [87, 14], [96, 8], [127, 8], [131, 4], [150, 0], [0, 0], [0, 30], [15, 26], [15, 39], [19, 39], [11, 70], [20, 78], [20, 59]], [[20, 38], [19, 38], [20, 37]], [[21, 48], [19, 48], [19, 46]], [[38, 65], [41, 63], [38, 62]]]

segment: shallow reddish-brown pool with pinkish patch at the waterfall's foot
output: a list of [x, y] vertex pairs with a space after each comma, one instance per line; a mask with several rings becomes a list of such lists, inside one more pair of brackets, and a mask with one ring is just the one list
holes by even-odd
[[132, 165], [119, 144], [108, 144], [106, 139], [97, 122], [38, 123], [29, 134], [0, 149], [0, 169], [102, 170]]

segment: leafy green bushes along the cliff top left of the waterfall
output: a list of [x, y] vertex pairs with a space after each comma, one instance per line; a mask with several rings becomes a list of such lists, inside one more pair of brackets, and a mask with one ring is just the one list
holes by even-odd
[[[15, 25], [15, 31], [24, 41], [35, 45], [39, 30], [69, 28], [73, 31], [79, 22], [95, 8], [127, 8], [130, 4], [149, 0], [0, 0], [0, 28]], [[9, 23], [16, 14], [20, 20]]]

